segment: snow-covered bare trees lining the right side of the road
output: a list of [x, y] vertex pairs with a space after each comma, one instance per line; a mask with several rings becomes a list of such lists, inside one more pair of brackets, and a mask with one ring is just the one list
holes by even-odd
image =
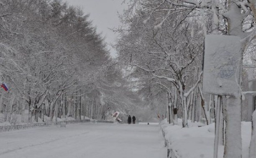
[[[181, 113], [169, 112], [170, 122], [173, 118], [176, 122], [178, 113], [183, 127], [188, 127], [188, 118], [194, 121], [197, 109], [202, 107], [209, 124], [210, 112], [221, 102], [213, 94], [202, 93], [204, 37], [239, 36], [241, 53], [251, 57], [249, 52], [255, 52], [256, 38], [255, 0], [131, 0], [129, 4], [122, 17], [124, 27], [118, 30], [122, 34], [117, 44], [120, 63], [130, 65], [131, 77], [142, 79], [144, 87], [158, 85], [158, 89], [165, 89], [168, 94], [163, 93], [162, 97], [167, 96], [171, 109], [180, 106]], [[241, 79], [238, 81], [241, 86]], [[225, 158], [241, 158], [241, 98], [242, 92], [223, 102]], [[255, 150], [253, 153], [251, 149], [253, 155]]]

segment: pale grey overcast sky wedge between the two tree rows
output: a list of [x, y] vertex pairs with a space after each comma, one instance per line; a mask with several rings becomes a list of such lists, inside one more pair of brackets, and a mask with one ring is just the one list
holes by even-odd
[[[125, 5], [121, 5], [123, 0], [63, 0], [69, 5], [79, 6], [84, 10], [84, 14], [90, 14], [90, 20], [97, 26], [97, 32], [102, 33], [107, 43], [115, 43], [117, 35], [108, 28], [120, 25], [118, 13], [122, 12]], [[110, 48], [110, 53], [115, 54], [115, 50]]]

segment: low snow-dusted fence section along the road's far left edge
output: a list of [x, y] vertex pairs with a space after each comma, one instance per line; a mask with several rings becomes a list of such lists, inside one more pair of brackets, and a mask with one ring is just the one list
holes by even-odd
[[47, 122], [31, 123], [31, 124], [25, 124], [25, 125], [0, 126], [0, 132], [10, 131], [10, 130], [23, 130], [23, 129], [33, 128], [33, 127], [46, 127], [46, 126], [49, 126]]

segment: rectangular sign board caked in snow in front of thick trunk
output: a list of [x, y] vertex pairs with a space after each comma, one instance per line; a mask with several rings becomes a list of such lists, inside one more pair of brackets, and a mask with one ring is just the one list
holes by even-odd
[[207, 35], [203, 92], [206, 94], [238, 96], [241, 42], [237, 36]]

